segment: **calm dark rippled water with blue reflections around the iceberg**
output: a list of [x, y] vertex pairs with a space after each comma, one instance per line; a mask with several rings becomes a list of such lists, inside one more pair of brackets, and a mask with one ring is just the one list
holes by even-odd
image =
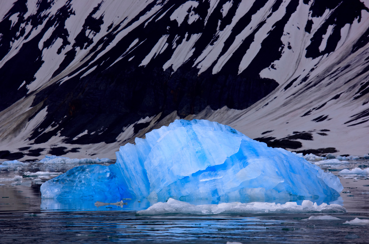
[[[343, 168], [368, 165], [361, 160], [321, 168], [337, 175]], [[369, 225], [344, 224], [355, 217], [369, 219], [367, 176], [339, 176], [345, 187], [341, 202], [348, 212], [329, 215], [340, 220], [308, 220], [311, 214], [136, 216], [137, 210], [155, 201], [131, 199], [123, 206], [97, 207], [95, 201], [41, 199], [40, 183], [51, 177], [39, 181], [25, 175], [28, 171], [65, 172], [75, 166], [30, 163], [0, 168], [0, 243], [369, 242]], [[15, 181], [15, 175], [23, 176], [22, 181]]]

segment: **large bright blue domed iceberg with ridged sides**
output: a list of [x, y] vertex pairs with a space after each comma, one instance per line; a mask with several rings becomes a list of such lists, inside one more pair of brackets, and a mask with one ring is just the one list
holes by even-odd
[[41, 185], [42, 198], [304, 199], [338, 197], [339, 179], [227, 125], [176, 120], [136, 138], [109, 166], [83, 165]]

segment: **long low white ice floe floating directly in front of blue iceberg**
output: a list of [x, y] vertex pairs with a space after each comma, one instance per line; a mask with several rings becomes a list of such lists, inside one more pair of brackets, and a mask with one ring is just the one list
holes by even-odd
[[317, 205], [309, 200], [304, 200], [302, 205], [296, 202], [276, 204], [269, 202], [251, 203], [220, 203], [208, 205], [192, 205], [187, 202], [169, 198], [167, 202], [158, 202], [146, 210], [138, 211], [137, 215], [163, 215], [173, 213], [185, 213], [196, 215], [213, 215], [225, 213], [309, 213], [309, 212], [346, 212], [346, 209], [338, 204]]

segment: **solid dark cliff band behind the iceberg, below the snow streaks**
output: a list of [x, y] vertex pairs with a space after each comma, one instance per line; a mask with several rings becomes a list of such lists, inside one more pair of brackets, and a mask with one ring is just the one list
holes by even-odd
[[[121, 133], [121, 128], [140, 118], [160, 112], [164, 117], [175, 110], [184, 118], [198, 114], [207, 105], [214, 109], [224, 105], [244, 109], [277, 87], [270, 79], [208, 73], [197, 76], [194, 69], [190, 72], [179, 69], [169, 76], [168, 72], [155, 68], [150, 72], [147, 67], [130, 68], [102, 72], [80, 81], [70, 79], [61, 86], [54, 84], [38, 93], [34, 104], [45, 100], [44, 107], [48, 106], [50, 112], [30, 139], [35, 139], [35, 143], [47, 142], [60, 128], [41, 135], [42, 128], [59, 120], [62, 128], [69, 128], [61, 135], [70, 139], [86, 129], [108, 128], [101, 135], [81, 136], [68, 143], [111, 143]], [[111, 77], [115, 72], [118, 75]]]

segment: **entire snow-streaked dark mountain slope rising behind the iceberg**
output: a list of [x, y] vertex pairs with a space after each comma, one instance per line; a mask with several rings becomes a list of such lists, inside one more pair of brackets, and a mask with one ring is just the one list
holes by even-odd
[[369, 1], [0, 1], [0, 158], [110, 157], [176, 118], [368, 153]]

